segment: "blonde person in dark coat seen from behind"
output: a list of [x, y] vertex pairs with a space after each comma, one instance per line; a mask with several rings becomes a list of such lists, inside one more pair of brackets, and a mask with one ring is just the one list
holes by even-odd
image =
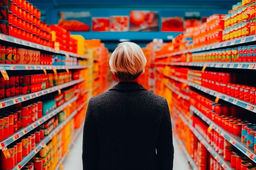
[[89, 100], [83, 170], [172, 170], [167, 101], [137, 82], [146, 65], [142, 49], [133, 42], [121, 42], [109, 64], [119, 83]]

